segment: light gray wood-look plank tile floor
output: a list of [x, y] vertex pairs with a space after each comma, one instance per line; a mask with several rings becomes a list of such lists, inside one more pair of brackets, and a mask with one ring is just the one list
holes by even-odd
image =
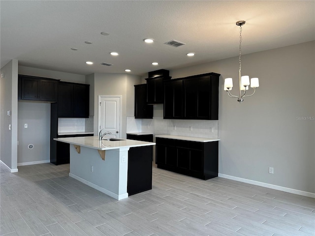
[[314, 236], [315, 199], [153, 166], [153, 189], [117, 201], [69, 165], [0, 165], [1, 236]]

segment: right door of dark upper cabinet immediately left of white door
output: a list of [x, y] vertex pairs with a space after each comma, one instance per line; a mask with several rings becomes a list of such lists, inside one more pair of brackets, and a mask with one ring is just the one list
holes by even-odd
[[73, 85], [73, 117], [89, 118], [90, 85]]

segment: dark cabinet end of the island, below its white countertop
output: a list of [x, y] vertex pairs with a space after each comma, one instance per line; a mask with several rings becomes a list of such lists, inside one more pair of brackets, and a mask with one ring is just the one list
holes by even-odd
[[130, 148], [128, 151], [128, 196], [152, 189], [153, 146]]

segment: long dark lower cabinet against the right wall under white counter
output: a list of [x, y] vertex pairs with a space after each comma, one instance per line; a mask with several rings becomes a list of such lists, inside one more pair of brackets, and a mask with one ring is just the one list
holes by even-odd
[[218, 141], [156, 138], [158, 168], [201, 179], [218, 177]]

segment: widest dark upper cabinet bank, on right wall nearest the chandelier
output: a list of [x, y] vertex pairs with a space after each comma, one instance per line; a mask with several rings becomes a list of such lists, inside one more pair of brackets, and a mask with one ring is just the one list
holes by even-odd
[[164, 83], [164, 118], [218, 119], [219, 76], [207, 73]]

